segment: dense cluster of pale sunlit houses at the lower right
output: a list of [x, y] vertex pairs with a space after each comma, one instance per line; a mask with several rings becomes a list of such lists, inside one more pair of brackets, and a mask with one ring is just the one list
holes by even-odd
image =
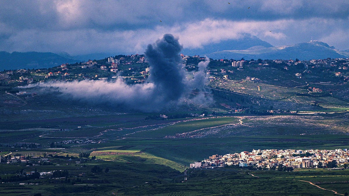
[[337, 164], [348, 163], [349, 151], [336, 150], [252, 150], [240, 153], [212, 155], [208, 159], [190, 164], [190, 168], [215, 168], [236, 165], [240, 167], [272, 168], [280, 164], [292, 168], [317, 168], [336, 161]]

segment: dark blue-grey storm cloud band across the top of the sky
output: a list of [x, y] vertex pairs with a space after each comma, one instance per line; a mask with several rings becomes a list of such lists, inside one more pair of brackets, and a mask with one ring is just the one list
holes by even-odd
[[[0, 22], [15, 29], [96, 28], [134, 30], [167, 24], [226, 20], [348, 19], [349, 2], [308, 0], [232, 1], [1, 1]], [[166, 8], [171, 8], [169, 13]], [[247, 10], [247, 7], [251, 7]], [[76, 24], [75, 24], [76, 22]]]

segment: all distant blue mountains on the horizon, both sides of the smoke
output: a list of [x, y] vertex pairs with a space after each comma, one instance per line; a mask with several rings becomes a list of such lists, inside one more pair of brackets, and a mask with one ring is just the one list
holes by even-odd
[[[234, 48], [234, 50], [227, 50]], [[225, 49], [225, 50], [223, 50]], [[208, 52], [210, 51], [210, 52]], [[201, 49], [184, 49], [185, 55], [208, 56], [212, 59], [326, 59], [348, 58], [349, 50], [339, 51], [324, 42], [311, 41], [288, 46], [272, 46], [255, 36], [246, 35], [239, 40], [225, 40], [207, 44]], [[99, 60], [113, 56], [111, 53], [94, 53], [70, 56], [68, 53], [51, 52], [12, 52], [0, 51], [0, 70], [40, 69], [59, 66], [62, 63], [84, 62], [89, 59]]]

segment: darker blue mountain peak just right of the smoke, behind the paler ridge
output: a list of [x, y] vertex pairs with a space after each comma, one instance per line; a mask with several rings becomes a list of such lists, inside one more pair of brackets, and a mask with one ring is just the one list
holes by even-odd
[[194, 55], [202, 56], [203, 54], [214, 53], [217, 51], [224, 51], [227, 49], [245, 50], [253, 46], [273, 47], [273, 45], [259, 39], [256, 36], [245, 35], [241, 39], [221, 40], [218, 43], [210, 43], [210, 44], [203, 45], [202, 48], [194, 48], [194, 49], [184, 48], [181, 53], [185, 55], [190, 55], [190, 56], [194, 56]]

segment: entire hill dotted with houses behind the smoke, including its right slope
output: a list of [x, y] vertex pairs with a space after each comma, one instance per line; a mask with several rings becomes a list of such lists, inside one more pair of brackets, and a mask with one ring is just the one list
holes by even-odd
[[[198, 63], [207, 60], [206, 57], [199, 55], [180, 54], [180, 57], [183, 61], [178, 66], [186, 70], [189, 80], [195, 76], [195, 71], [198, 71]], [[220, 110], [213, 110], [215, 113], [224, 115], [298, 113], [299, 110], [317, 110], [312, 106], [323, 107], [326, 102], [338, 103], [349, 99], [346, 88], [342, 86], [349, 78], [349, 58], [303, 61], [298, 59], [209, 59], [209, 61], [206, 70], [209, 83], [206, 88], [211, 88], [215, 97], [224, 99], [217, 104]], [[147, 83], [151, 74], [150, 69], [144, 54], [116, 55], [101, 60], [65, 63], [45, 69], [4, 70], [0, 72], [0, 85], [7, 89], [7, 93], [29, 99], [35, 97], [37, 92], [19, 90], [15, 87], [83, 80], [122, 80], [128, 85], [133, 85]], [[194, 94], [195, 89], [193, 89]], [[301, 98], [302, 101], [299, 101], [297, 97], [289, 97], [290, 95], [307, 97], [307, 100]], [[326, 99], [324, 102], [322, 97], [332, 97], [332, 99]], [[275, 100], [282, 100], [284, 104], [280, 105]], [[18, 104], [16, 101], [6, 99], [3, 104]], [[298, 105], [292, 105], [292, 102]]]

